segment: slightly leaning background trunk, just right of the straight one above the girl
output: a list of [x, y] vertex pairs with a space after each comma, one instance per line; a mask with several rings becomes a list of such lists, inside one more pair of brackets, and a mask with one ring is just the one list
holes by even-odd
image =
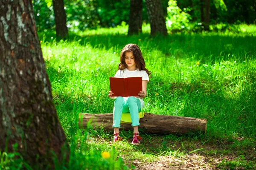
[[151, 28], [151, 35], [163, 34], [167, 35], [165, 18], [163, 17], [163, 6], [161, 0], [145, 0], [148, 19]]

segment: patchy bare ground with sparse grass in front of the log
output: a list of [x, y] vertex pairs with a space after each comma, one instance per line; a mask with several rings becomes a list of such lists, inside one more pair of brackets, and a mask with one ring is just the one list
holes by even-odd
[[244, 140], [145, 135], [139, 146], [131, 139], [109, 144], [135, 170], [256, 170], [256, 146], [245, 147]]

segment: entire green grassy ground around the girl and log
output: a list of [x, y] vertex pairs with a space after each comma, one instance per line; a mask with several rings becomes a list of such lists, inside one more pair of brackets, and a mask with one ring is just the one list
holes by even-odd
[[[127, 26], [70, 33], [55, 41], [40, 34], [52, 95], [70, 141], [68, 169], [256, 169], [256, 28], [241, 32], [126, 36]], [[252, 31], [254, 30], [254, 31]], [[148, 82], [145, 112], [208, 120], [206, 134], [141, 132], [140, 146], [112, 144], [112, 132], [81, 130], [78, 114], [112, 113], [109, 77], [122, 47], [140, 46]], [[170, 125], [171, 126], [171, 125]], [[57, 169], [62, 169], [56, 164]]]

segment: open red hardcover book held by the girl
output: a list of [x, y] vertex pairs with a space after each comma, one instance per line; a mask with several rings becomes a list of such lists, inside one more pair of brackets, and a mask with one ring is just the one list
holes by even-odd
[[139, 96], [142, 91], [142, 77], [109, 77], [110, 91], [114, 96]]

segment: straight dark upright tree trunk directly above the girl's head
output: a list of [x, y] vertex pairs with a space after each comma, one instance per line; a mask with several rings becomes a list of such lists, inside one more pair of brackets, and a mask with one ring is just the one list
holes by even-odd
[[142, 27], [142, 0], [130, 0], [130, 18], [128, 34], [139, 34]]

